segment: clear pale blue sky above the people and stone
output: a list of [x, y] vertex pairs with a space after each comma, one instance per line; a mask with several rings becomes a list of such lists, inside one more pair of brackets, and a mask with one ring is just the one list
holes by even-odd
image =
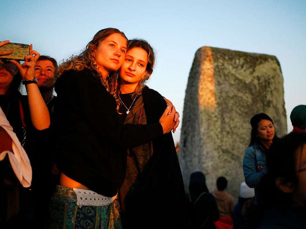
[[33, 44], [58, 62], [79, 53], [106, 27], [147, 40], [157, 57], [147, 85], [172, 101], [181, 121], [189, 71], [202, 46], [276, 56], [284, 77], [288, 131], [293, 107], [306, 104], [306, 1], [1, 2], [0, 40]]

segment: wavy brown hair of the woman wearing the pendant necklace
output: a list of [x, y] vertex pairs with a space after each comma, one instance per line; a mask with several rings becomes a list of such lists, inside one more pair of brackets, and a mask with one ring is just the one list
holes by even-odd
[[[150, 78], [152, 72], [153, 72], [153, 68], [154, 68], [154, 64], [155, 64], [155, 54], [154, 54], [154, 49], [151, 47], [151, 45], [143, 39], [132, 39], [128, 41], [128, 46], [127, 46], [127, 51], [128, 52], [130, 49], [132, 48], [142, 48], [144, 49], [147, 54], [148, 54], [148, 63], [147, 63], [147, 67], [146, 67], [146, 71], [147, 73], [144, 75], [143, 78], [140, 79], [140, 81], [138, 82], [138, 85], [134, 91], [134, 93], [132, 94], [132, 98], [135, 98], [135, 96], [137, 95], [141, 95], [142, 94], [142, 89], [145, 86], [145, 83], [147, 82], [147, 80]], [[117, 111], [119, 110], [120, 106], [121, 106], [121, 102], [119, 99], [119, 95], [120, 95], [120, 84], [118, 83], [118, 78], [120, 77], [118, 74], [119, 71], [113, 72], [110, 76], [111, 79], [111, 86], [110, 86], [110, 94], [112, 94], [115, 99], [116, 99], [116, 103], [117, 103]]]

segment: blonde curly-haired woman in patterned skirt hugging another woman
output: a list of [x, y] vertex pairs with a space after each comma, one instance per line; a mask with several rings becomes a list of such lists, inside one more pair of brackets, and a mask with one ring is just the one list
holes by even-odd
[[122, 124], [108, 75], [123, 63], [126, 46], [124, 33], [103, 29], [59, 67], [54, 128], [61, 175], [47, 228], [121, 228], [117, 192], [126, 170], [123, 149], [173, 129], [170, 107], [151, 125]]

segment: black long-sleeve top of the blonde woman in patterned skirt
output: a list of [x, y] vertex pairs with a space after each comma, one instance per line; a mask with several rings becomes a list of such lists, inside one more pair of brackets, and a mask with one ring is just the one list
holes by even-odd
[[62, 173], [92, 191], [114, 196], [126, 171], [126, 152], [118, 149], [162, 136], [161, 124], [123, 125], [114, 97], [93, 71], [65, 72], [55, 91], [56, 153]]

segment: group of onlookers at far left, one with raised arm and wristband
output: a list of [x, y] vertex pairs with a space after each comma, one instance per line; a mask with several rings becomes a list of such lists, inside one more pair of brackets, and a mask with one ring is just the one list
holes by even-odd
[[[6, 43], [1, 42], [0, 46]], [[3, 54], [6, 53], [0, 53]], [[34, 50], [30, 54], [22, 65], [19, 61], [0, 60], [3, 111], [0, 114], [0, 225], [3, 228], [44, 224], [48, 206], [41, 203], [49, 201], [59, 179], [52, 133], [58, 64], [54, 58], [40, 56]], [[37, 81], [27, 84], [34, 77]], [[22, 81], [27, 95], [21, 94]]]

